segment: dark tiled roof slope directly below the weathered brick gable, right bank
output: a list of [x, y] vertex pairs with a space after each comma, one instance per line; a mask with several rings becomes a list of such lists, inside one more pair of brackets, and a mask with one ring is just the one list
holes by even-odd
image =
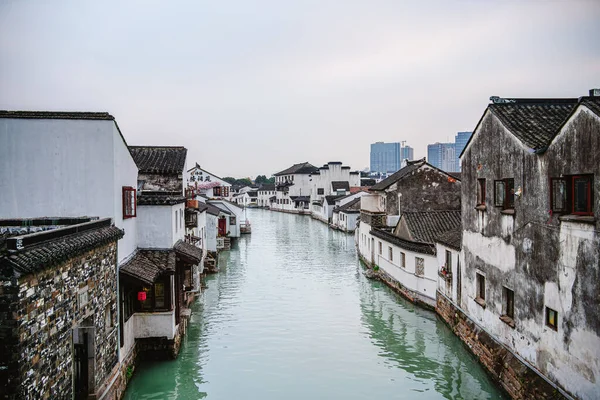
[[417, 242], [435, 243], [439, 235], [461, 228], [460, 210], [405, 212], [400, 219]]

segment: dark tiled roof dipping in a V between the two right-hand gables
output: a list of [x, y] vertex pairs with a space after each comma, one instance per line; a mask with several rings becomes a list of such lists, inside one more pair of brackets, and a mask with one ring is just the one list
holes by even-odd
[[523, 144], [546, 148], [577, 106], [577, 99], [515, 99], [490, 104], [490, 111]]

